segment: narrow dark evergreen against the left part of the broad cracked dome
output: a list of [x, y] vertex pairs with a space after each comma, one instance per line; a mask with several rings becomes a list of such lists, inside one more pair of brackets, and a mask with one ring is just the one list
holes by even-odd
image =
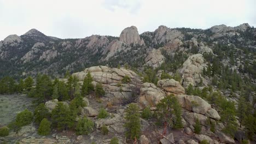
[[84, 82], [83, 82], [83, 86], [82, 86], [82, 95], [83, 97], [85, 95], [88, 95], [90, 92], [94, 91], [94, 85], [92, 85], [92, 77], [91, 77], [91, 73], [88, 72], [86, 74], [86, 76], [84, 77]]

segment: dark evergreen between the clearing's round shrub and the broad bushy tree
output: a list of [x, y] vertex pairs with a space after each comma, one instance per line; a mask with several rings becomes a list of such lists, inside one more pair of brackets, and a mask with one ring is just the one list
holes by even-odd
[[43, 103], [39, 104], [34, 110], [34, 122], [37, 124], [39, 124], [44, 118], [49, 118], [50, 116], [51, 113]]

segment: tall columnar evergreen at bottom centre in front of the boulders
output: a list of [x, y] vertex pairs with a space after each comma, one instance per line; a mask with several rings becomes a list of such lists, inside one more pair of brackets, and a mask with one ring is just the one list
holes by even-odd
[[125, 125], [127, 129], [125, 135], [127, 138], [133, 140], [138, 139], [141, 133], [141, 122], [139, 119], [139, 108], [136, 104], [129, 104], [125, 113]]

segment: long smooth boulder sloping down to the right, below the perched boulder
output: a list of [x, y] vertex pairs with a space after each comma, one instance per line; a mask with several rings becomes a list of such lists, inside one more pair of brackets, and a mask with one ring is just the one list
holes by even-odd
[[207, 101], [195, 95], [176, 95], [176, 98], [181, 106], [189, 111], [205, 115], [205, 113], [211, 109], [211, 105], [208, 104]]

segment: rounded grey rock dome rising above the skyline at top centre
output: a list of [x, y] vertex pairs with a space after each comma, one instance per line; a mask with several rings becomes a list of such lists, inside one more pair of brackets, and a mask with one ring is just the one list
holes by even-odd
[[120, 34], [120, 41], [128, 45], [144, 45], [135, 26], [125, 28]]

